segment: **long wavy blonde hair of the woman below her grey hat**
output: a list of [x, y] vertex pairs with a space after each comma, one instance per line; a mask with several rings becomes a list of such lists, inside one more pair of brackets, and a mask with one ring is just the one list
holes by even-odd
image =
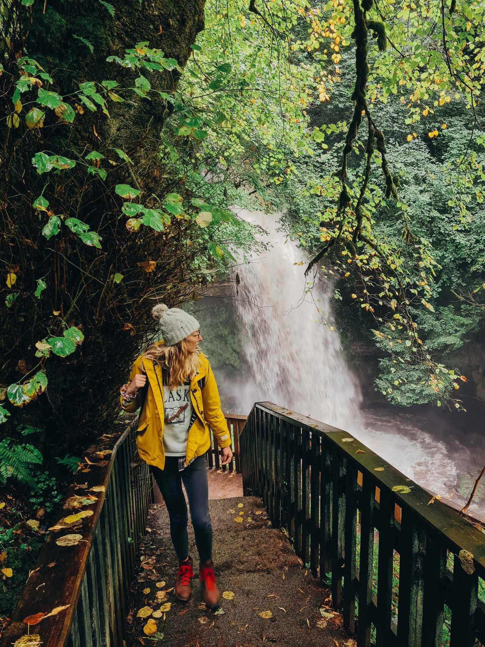
[[144, 353], [144, 359], [159, 364], [162, 369], [167, 369], [167, 385], [173, 389], [187, 380], [191, 380], [199, 371], [200, 349], [189, 353], [184, 339], [173, 346], [166, 346], [163, 342], [152, 344]]

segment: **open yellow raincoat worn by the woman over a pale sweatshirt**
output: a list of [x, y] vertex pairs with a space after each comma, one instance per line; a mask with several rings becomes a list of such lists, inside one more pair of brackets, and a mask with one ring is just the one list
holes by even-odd
[[[202, 353], [199, 355], [199, 359], [199, 372], [190, 381], [190, 399], [196, 418], [189, 429], [186, 465], [193, 458], [205, 454], [210, 448], [209, 428], [217, 438], [219, 447], [228, 447], [231, 444], [231, 435], [221, 410], [221, 400], [209, 360]], [[162, 369], [156, 362], [154, 364], [151, 360], [144, 359], [143, 355], [140, 355], [133, 364], [129, 377], [130, 382], [137, 373], [143, 373], [142, 365], [147, 375], [148, 389], [136, 428], [136, 444], [138, 445], [138, 454], [148, 465], [156, 465], [163, 470], [165, 466], [163, 443], [165, 416]], [[199, 380], [202, 380], [204, 384], [202, 389]], [[135, 399], [127, 406], [123, 406], [123, 399], [120, 397], [120, 403], [125, 411], [133, 412], [140, 407], [142, 404], [141, 391], [142, 389], [138, 389]]]

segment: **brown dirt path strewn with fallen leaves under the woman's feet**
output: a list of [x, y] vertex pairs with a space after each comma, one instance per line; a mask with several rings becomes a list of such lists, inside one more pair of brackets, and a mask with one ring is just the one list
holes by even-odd
[[[196, 577], [191, 600], [185, 605], [177, 601], [171, 589], [178, 564], [168, 516], [164, 505], [155, 505], [147, 522], [151, 532], [141, 546], [140, 575], [133, 583], [127, 647], [153, 642], [177, 647], [250, 647], [263, 642], [355, 647], [355, 641], [347, 638], [342, 628], [341, 615], [331, 609], [329, 589], [322, 589], [302, 567], [286, 535], [271, 527], [261, 499], [211, 500], [210, 509], [217, 582], [221, 593], [228, 592], [230, 599], [222, 599], [219, 613], [208, 611], [203, 604], [197, 551], [189, 526]], [[143, 608], [150, 615], [137, 617]], [[146, 635], [147, 624], [147, 629], [153, 628], [156, 633]]]

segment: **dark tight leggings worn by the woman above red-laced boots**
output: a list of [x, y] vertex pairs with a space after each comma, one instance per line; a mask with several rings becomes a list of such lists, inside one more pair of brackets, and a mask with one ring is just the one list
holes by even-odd
[[178, 471], [177, 456], [166, 456], [163, 470], [153, 465], [150, 469], [167, 506], [170, 536], [178, 560], [184, 560], [189, 553], [187, 504], [182, 490], [182, 481], [189, 499], [190, 519], [200, 561], [211, 560], [212, 526], [209, 514], [206, 455], [197, 456], [182, 472]]

